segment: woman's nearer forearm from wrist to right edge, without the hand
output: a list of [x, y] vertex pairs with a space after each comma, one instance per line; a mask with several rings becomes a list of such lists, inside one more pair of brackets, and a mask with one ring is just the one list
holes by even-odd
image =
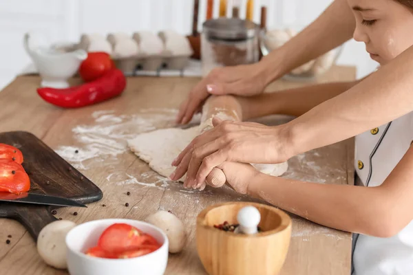
[[413, 46], [348, 91], [285, 124], [290, 157], [346, 140], [413, 111], [412, 72]]

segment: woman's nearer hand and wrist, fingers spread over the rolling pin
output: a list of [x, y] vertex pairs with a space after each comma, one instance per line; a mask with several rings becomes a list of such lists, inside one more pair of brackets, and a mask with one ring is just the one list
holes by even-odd
[[200, 188], [212, 168], [224, 162], [280, 163], [290, 157], [283, 126], [231, 122], [213, 118], [214, 128], [198, 135], [172, 162], [172, 180], [185, 173], [184, 187]]

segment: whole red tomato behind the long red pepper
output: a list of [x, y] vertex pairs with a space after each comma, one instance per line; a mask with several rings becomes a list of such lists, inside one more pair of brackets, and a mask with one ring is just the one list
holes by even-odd
[[89, 52], [79, 67], [79, 75], [85, 82], [96, 80], [115, 67], [106, 52]]

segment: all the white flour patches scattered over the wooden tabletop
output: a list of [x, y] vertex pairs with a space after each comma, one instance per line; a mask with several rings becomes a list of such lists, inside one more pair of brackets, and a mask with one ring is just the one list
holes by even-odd
[[[77, 125], [72, 129], [74, 144], [76, 145], [59, 146], [55, 151], [79, 170], [101, 167], [103, 164], [105, 166], [113, 164], [116, 167], [118, 155], [129, 152], [127, 140], [133, 138], [137, 133], [173, 126], [177, 112], [176, 109], [156, 108], [143, 109], [134, 115], [117, 115], [115, 111], [95, 111], [92, 113], [92, 123]], [[196, 115], [192, 123], [199, 123], [199, 121], [200, 115]], [[345, 171], [337, 169], [333, 171], [333, 177], [330, 175], [331, 170], [328, 170], [328, 167], [317, 165], [319, 163], [317, 160], [323, 157], [326, 156], [319, 153], [318, 150], [297, 155], [288, 160], [289, 168], [282, 177], [321, 184], [330, 178], [345, 180]], [[171, 188], [168, 184], [169, 179], [158, 174], [154, 175], [153, 171], [142, 173], [138, 179], [125, 170], [120, 170], [116, 173], [109, 172], [105, 179], [117, 185], [138, 184], [145, 187]], [[173, 188], [176, 188], [178, 192], [182, 192], [184, 196], [189, 194], [192, 198], [200, 192], [181, 188], [180, 185]], [[202, 191], [202, 196], [215, 195], [212, 190]], [[245, 198], [240, 196], [234, 200], [241, 201], [243, 199]], [[297, 226], [297, 223], [302, 222], [304, 222], [302, 219], [293, 219], [293, 223], [296, 223], [293, 226]], [[306, 229], [301, 229], [299, 225], [297, 230], [293, 230], [292, 236], [301, 237], [304, 241], [308, 241], [306, 236], [312, 234], [325, 234], [326, 236], [343, 239], [343, 237], [334, 234], [334, 231], [330, 228], [318, 225], [310, 228], [306, 225]]]

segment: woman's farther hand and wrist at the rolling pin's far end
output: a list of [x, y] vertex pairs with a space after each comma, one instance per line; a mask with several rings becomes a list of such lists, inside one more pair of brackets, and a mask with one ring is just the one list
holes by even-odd
[[210, 94], [238, 96], [261, 94], [267, 82], [264, 69], [265, 67], [260, 63], [213, 69], [193, 87], [182, 102], [176, 122], [181, 124], [189, 122]]

